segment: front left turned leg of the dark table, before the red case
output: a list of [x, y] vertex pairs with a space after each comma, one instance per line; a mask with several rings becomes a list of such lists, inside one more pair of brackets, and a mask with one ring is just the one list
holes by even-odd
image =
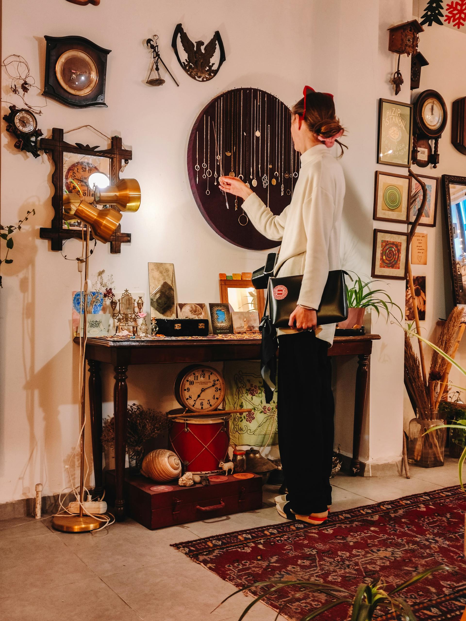
[[126, 420], [128, 409], [127, 366], [115, 366], [114, 416], [115, 416], [115, 517], [119, 522], [125, 519]]

